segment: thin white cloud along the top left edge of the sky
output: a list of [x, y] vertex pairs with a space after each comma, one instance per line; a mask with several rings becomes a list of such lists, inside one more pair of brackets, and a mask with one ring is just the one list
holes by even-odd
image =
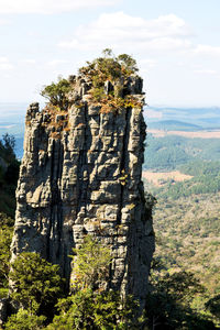
[[120, 0], [0, 0], [0, 13], [41, 13], [69, 12], [84, 8], [103, 7]]

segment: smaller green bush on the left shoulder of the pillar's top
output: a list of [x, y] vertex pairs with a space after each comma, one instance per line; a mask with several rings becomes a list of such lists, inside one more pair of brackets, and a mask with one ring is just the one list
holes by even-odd
[[48, 99], [52, 106], [57, 106], [61, 110], [67, 110], [68, 100], [66, 95], [70, 91], [70, 82], [67, 79], [58, 79], [58, 82], [52, 82], [45, 86], [41, 95]]

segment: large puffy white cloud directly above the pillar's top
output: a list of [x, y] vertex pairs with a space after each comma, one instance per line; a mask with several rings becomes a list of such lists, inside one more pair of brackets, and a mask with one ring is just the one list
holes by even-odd
[[102, 13], [97, 21], [80, 25], [69, 41], [58, 45], [66, 48], [96, 50], [97, 47], [133, 50], [185, 50], [191, 47], [191, 31], [184, 20], [169, 14], [144, 20], [123, 12]]

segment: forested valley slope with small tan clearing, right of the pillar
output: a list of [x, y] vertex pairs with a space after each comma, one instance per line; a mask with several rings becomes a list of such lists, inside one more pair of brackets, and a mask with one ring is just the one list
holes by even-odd
[[217, 328], [220, 316], [219, 143], [218, 139], [148, 136], [144, 163], [147, 172], [143, 175], [146, 191], [156, 199], [154, 257], [160, 265], [158, 274], [194, 274], [204, 292], [190, 298], [190, 307], [209, 315], [212, 306], [210, 317]]

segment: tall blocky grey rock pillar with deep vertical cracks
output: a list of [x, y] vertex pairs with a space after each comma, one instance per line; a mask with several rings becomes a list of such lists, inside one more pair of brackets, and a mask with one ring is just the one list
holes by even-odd
[[[92, 234], [112, 251], [108, 286], [143, 301], [154, 235], [141, 182], [142, 109], [100, 113], [90, 81], [72, 77], [72, 84], [66, 111], [40, 112], [37, 103], [28, 109], [12, 258], [38, 252], [69, 279], [72, 249]], [[138, 76], [125, 88], [143, 99]]]

